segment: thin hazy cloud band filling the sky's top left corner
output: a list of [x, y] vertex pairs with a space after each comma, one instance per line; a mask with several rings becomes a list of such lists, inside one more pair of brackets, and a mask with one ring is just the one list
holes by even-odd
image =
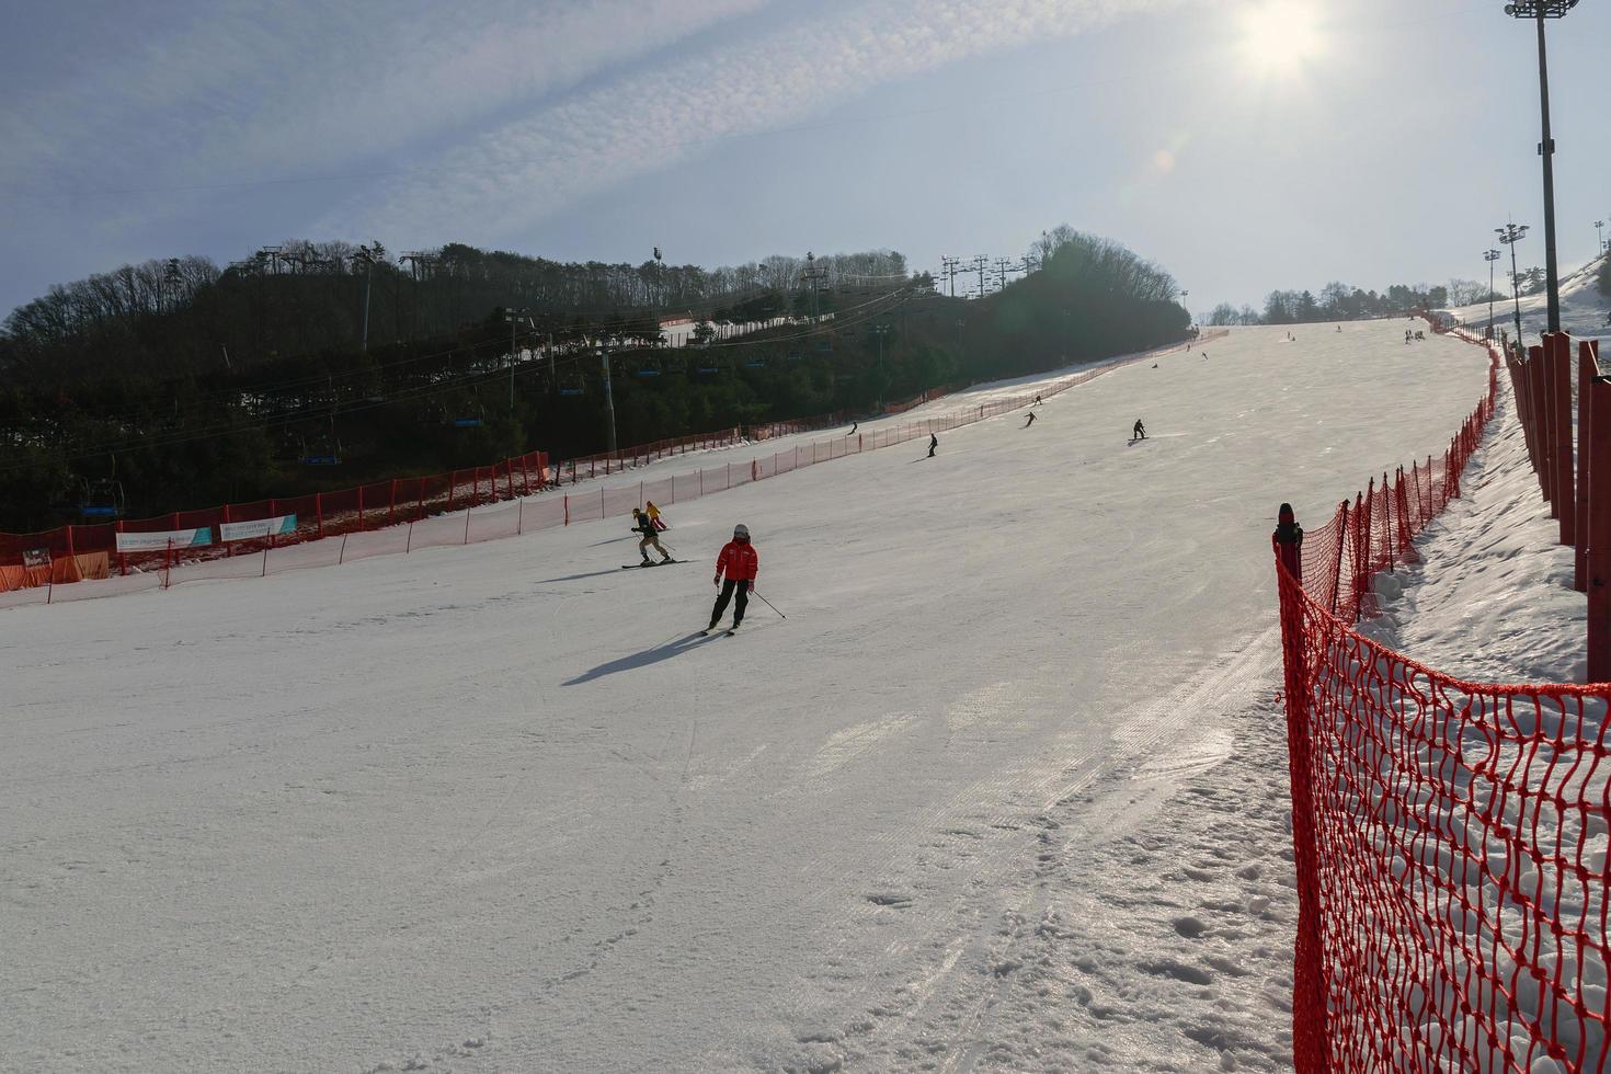
[[0, 187], [206, 185], [340, 169], [453, 142], [765, 3], [213, 0], [168, 24], [135, 8], [101, 11], [127, 23], [124, 48], [103, 43], [66, 56], [61, 77], [8, 87]]

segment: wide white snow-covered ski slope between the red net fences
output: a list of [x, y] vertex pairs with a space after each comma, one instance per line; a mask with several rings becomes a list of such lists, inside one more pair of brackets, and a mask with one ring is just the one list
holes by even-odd
[[[0, 1068], [1287, 1068], [1268, 535], [1481, 398], [1406, 324], [669, 509], [683, 565], [612, 518], [0, 612]], [[735, 522], [788, 620], [699, 638]]]

